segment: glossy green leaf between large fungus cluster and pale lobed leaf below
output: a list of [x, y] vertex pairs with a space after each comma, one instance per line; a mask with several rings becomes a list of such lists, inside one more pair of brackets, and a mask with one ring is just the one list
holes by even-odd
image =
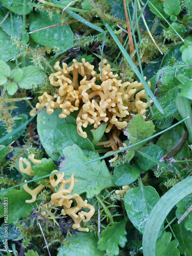
[[54, 133], [54, 140], [56, 143], [57, 151], [61, 157], [63, 157], [63, 148], [73, 144], [79, 145], [82, 150], [95, 150], [91, 141], [88, 138], [84, 139], [78, 135], [77, 126], [71, 123], [63, 123], [57, 125]]

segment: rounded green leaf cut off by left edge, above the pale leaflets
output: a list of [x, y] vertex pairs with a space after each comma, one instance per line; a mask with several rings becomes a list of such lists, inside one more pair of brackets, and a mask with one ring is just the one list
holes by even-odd
[[14, 47], [10, 41], [9, 35], [0, 28], [0, 59], [8, 61], [15, 56]]

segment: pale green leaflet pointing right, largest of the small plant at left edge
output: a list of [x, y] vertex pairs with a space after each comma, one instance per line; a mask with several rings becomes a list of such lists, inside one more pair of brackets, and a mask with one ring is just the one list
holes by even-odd
[[23, 68], [22, 79], [18, 85], [24, 89], [31, 89], [33, 84], [41, 84], [44, 81], [45, 72], [37, 66], [28, 66]]

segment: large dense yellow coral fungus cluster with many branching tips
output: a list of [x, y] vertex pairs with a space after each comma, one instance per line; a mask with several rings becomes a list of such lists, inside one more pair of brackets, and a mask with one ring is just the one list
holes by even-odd
[[[122, 83], [121, 80], [117, 80], [118, 75], [111, 72], [109, 64], [105, 65], [105, 59], [102, 60], [101, 77], [94, 71], [93, 65], [84, 58], [81, 61], [73, 59], [70, 67], [62, 63], [62, 68], [59, 61], [56, 62], [54, 69], [57, 72], [51, 74], [49, 80], [52, 86], [59, 89], [53, 96], [45, 92], [38, 97], [39, 103], [36, 104], [36, 108], [46, 106], [48, 114], [60, 108], [60, 118], [79, 110], [76, 119], [77, 132], [83, 138], [87, 138], [87, 133], [82, 127], [93, 124], [94, 128], [97, 128], [101, 122], [108, 122], [105, 133], [112, 131], [112, 135], [109, 135], [109, 141], [105, 146], [112, 146], [115, 152], [122, 145], [118, 136], [127, 126], [129, 115], [138, 113], [146, 118], [148, 102], [144, 86], [138, 81]], [[148, 87], [151, 87], [150, 82]], [[152, 103], [152, 100], [149, 102]]]

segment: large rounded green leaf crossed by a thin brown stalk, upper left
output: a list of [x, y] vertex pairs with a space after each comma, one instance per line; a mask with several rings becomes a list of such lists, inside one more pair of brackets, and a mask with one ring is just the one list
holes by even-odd
[[[53, 16], [50, 20], [48, 12], [39, 12], [37, 16], [32, 18], [30, 31], [61, 23], [61, 14], [54, 12], [52, 14]], [[73, 32], [69, 25], [34, 32], [31, 34], [31, 37], [37, 44], [51, 48], [57, 46], [63, 49], [73, 45]]]

